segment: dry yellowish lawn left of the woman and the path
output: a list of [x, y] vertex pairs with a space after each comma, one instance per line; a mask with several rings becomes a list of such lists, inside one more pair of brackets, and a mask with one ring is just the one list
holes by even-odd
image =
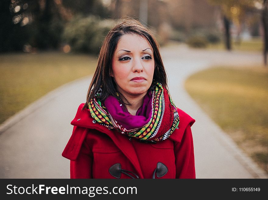
[[90, 75], [97, 58], [58, 52], [0, 55], [0, 123], [64, 83]]

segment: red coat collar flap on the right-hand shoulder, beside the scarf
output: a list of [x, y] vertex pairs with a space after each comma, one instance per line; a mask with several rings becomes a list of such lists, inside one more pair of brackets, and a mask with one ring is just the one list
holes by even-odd
[[179, 108], [177, 108], [177, 111], [180, 118], [178, 129], [175, 129], [175, 131], [169, 136], [169, 139], [175, 142], [181, 142], [185, 129], [188, 125], [192, 126], [196, 120]]

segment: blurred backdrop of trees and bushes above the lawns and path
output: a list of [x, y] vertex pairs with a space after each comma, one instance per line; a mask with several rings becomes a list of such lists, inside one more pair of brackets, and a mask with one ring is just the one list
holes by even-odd
[[267, 35], [265, 2], [3, 0], [0, 52], [56, 50], [97, 54], [107, 30], [125, 16], [136, 17], [149, 26], [161, 45], [170, 40], [194, 47], [222, 43], [231, 50], [242, 49], [240, 44], [251, 42], [249, 46], [255, 45], [261, 51], [260, 43]]

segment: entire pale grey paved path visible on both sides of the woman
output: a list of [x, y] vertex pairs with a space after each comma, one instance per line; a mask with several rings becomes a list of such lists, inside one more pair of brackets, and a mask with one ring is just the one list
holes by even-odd
[[[169, 89], [177, 107], [196, 119], [192, 126], [197, 178], [267, 178], [249, 157], [203, 113], [183, 89], [193, 72], [213, 64], [261, 63], [261, 54], [161, 49]], [[69, 178], [61, 156], [72, 132], [70, 121], [85, 102], [90, 77], [68, 83], [0, 126], [0, 178]]]

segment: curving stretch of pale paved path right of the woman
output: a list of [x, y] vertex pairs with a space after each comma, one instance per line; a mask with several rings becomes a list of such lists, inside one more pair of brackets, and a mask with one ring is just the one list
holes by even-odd
[[192, 73], [213, 65], [262, 64], [260, 53], [203, 51], [186, 46], [162, 49], [169, 75], [169, 89], [175, 105], [196, 119], [192, 126], [197, 178], [267, 178], [232, 139], [192, 100], [184, 89]]

